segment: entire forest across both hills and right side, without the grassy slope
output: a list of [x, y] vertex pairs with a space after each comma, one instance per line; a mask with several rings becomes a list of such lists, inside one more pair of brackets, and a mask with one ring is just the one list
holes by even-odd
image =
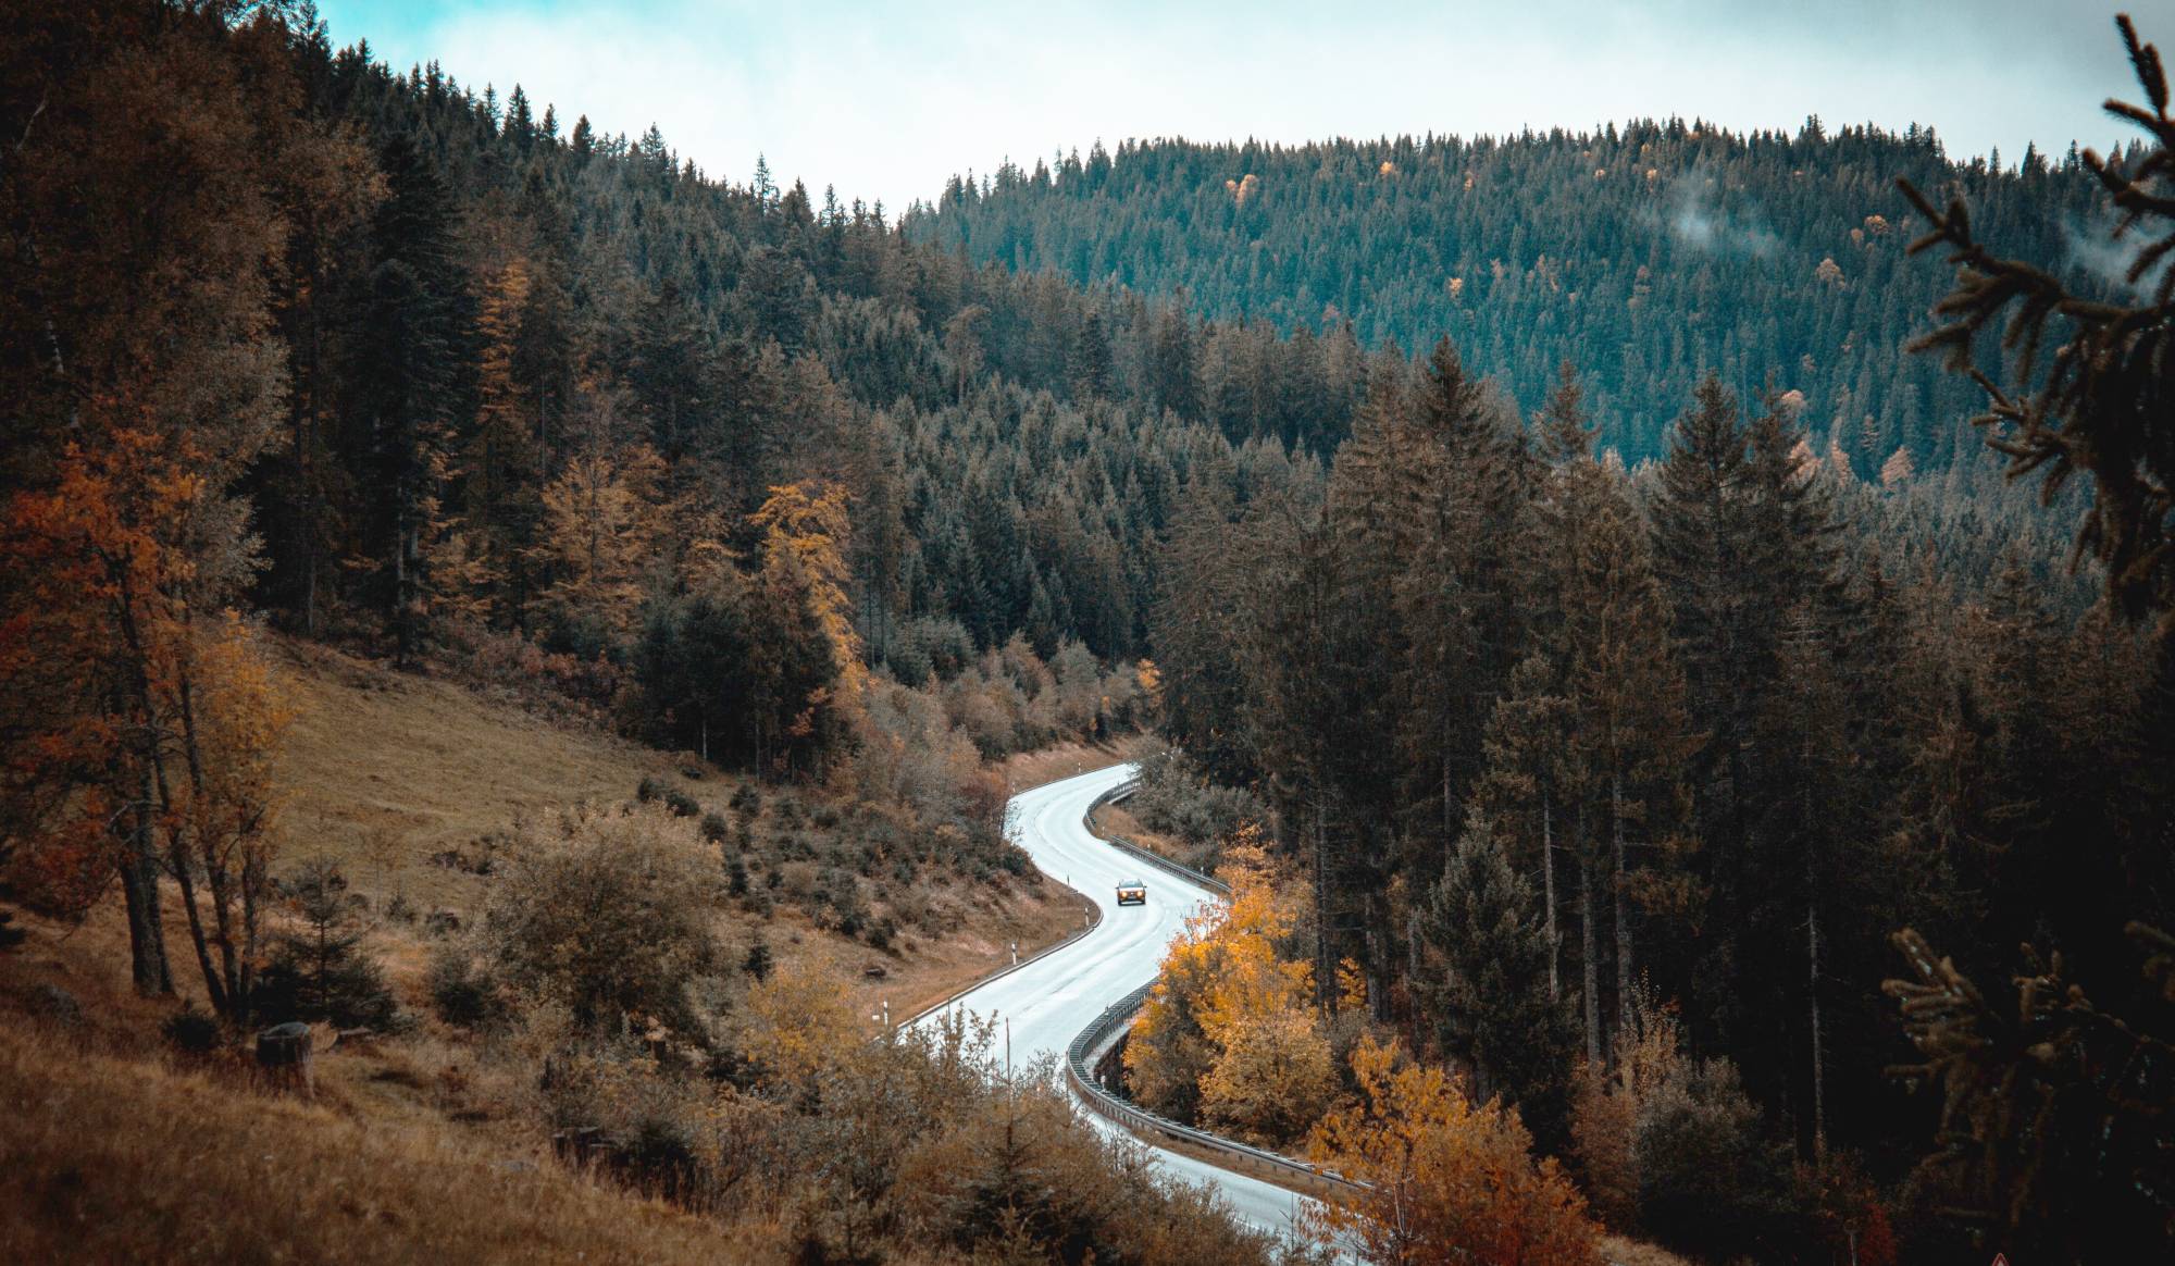
[[[159, 994], [165, 877], [252, 1016], [268, 629], [907, 805], [981, 874], [1024, 861], [977, 761], [1155, 727], [1140, 822], [1238, 898], [1129, 1038], [1151, 1105], [1340, 1166], [1427, 1105], [1542, 1255], [2166, 1244], [2175, 122], [2132, 52], [2105, 159], [1127, 141], [894, 215], [309, 7], [13, 4], [4, 894], [117, 881]], [[1064, 1244], [1133, 1244], [1105, 1214]]]

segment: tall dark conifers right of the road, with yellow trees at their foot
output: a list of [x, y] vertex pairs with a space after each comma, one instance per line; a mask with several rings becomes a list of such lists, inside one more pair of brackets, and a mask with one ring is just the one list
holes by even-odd
[[[1788, 365], [1757, 396], [1707, 372], [1627, 470], [1588, 363], [1520, 415], [1444, 337], [1368, 376], [1320, 485], [1190, 487], [1153, 618], [1179, 750], [1133, 814], [1222, 840], [1240, 896], [1133, 1027], [1144, 1099], [1335, 1144], [1327, 1070], [1381, 1077], [1388, 1031], [1516, 1103], [1605, 1222], [1701, 1259], [2166, 1240], [2175, 122], [2134, 57], [2153, 148], [2027, 176], [2138, 213], [2116, 244], [2149, 294], [2005, 255], [1999, 189], [1905, 185], [1894, 265], [1938, 326], [1881, 350], [1979, 368], [2010, 472], [2090, 487], [2062, 516], [2086, 609], [2029, 535], [1907, 529], [1910, 474], [1860, 479]], [[1307, 994], [1312, 1029], [1275, 1022]]]

